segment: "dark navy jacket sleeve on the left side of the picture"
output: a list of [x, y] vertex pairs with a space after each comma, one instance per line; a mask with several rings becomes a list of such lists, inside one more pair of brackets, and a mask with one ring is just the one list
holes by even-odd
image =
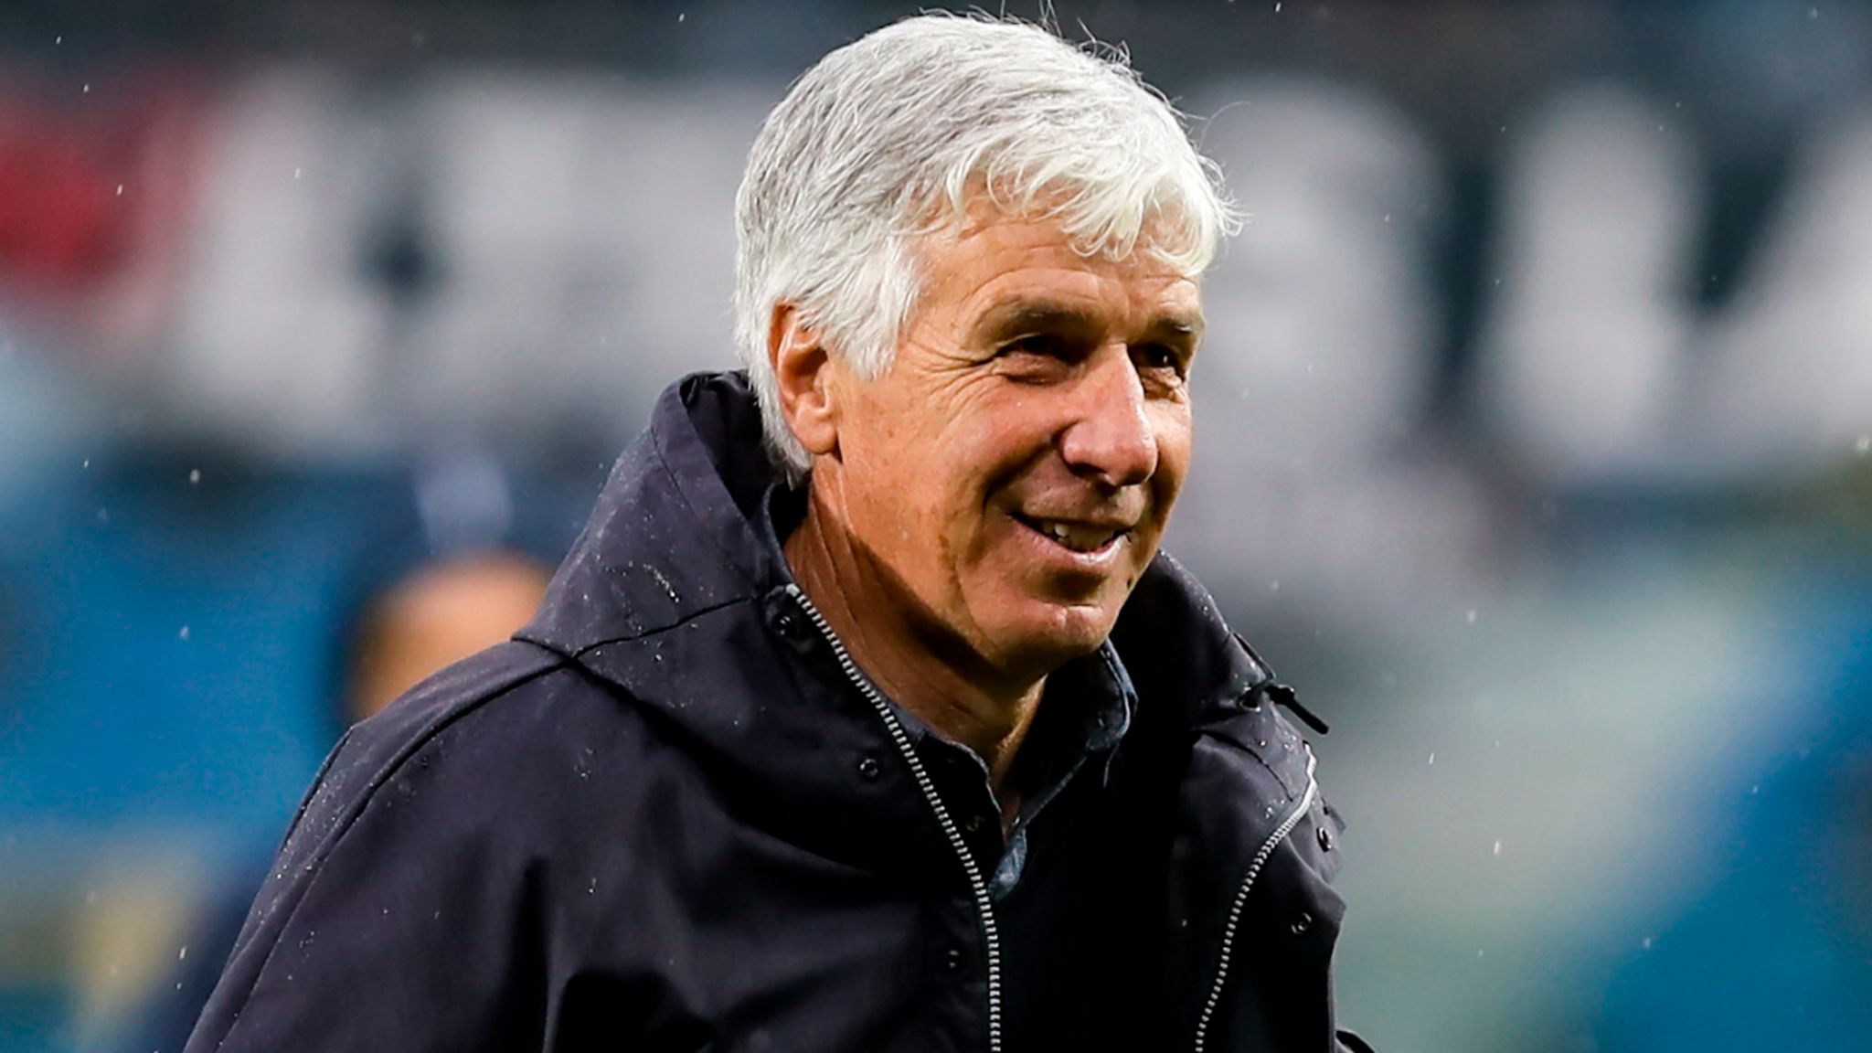
[[539, 1046], [535, 868], [483, 712], [399, 703], [339, 744], [187, 1053]]

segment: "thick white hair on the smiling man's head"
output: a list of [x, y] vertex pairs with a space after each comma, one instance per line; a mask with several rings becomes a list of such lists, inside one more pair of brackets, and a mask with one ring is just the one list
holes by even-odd
[[790, 478], [811, 457], [781, 416], [773, 307], [882, 375], [917, 302], [919, 238], [979, 193], [1058, 223], [1088, 257], [1142, 249], [1189, 277], [1239, 229], [1221, 171], [1121, 51], [949, 13], [833, 51], [768, 114], [736, 195], [736, 341]]

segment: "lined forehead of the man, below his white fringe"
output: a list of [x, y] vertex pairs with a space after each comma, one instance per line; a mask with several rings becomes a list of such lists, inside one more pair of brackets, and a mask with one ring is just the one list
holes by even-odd
[[1142, 247], [1116, 259], [1088, 255], [1050, 219], [975, 206], [966, 221], [925, 236], [919, 262], [919, 307], [932, 313], [972, 319], [1041, 298], [1071, 302], [1114, 322], [1202, 324], [1194, 277]]

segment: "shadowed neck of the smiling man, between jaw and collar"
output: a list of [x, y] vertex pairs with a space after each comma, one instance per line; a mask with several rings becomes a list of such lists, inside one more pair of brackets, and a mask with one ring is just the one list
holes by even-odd
[[908, 616], [902, 588], [856, 543], [837, 504], [837, 495], [811, 489], [805, 521], [784, 543], [794, 579], [870, 682], [973, 749], [1002, 793], [1046, 678], [996, 676], [966, 646], [932, 646], [930, 630]]

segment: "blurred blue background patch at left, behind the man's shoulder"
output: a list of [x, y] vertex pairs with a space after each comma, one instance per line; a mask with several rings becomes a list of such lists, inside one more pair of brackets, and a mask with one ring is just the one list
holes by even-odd
[[275, 832], [335, 736], [333, 611], [395, 489], [135, 455], [62, 468], [4, 547], [0, 824]]

